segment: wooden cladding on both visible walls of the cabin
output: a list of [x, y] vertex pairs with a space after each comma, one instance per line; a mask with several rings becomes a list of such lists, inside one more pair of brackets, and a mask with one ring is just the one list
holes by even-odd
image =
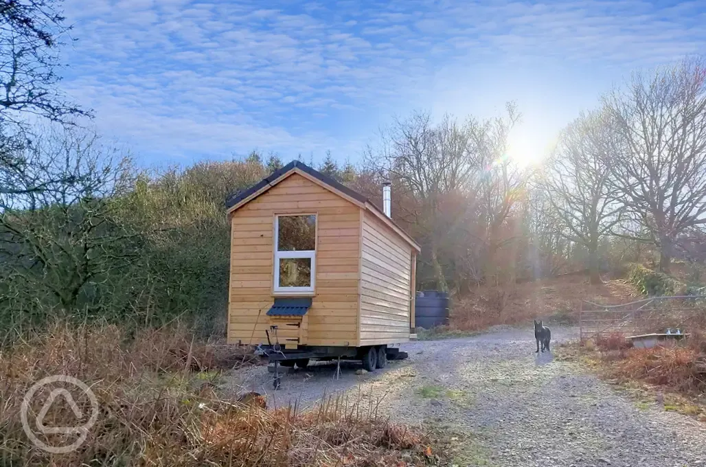
[[[268, 309], [282, 296], [273, 286], [275, 217], [303, 214], [316, 215], [312, 305], [303, 317], [273, 319]], [[267, 343], [265, 331], [273, 325], [280, 343], [291, 339], [289, 348], [409, 340], [414, 256], [386, 220], [299, 173], [230, 215], [229, 343]]]

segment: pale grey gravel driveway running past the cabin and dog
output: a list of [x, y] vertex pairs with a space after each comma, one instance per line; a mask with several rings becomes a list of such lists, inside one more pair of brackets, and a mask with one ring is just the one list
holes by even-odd
[[[575, 337], [552, 329], [554, 341]], [[638, 408], [592, 374], [534, 353], [532, 329], [409, 343], [409, 359], [355, 374], [317, 365], [271, 391], [264, 367], [240, 372], [232, 391], [267, 392], [270, 405], [316, 403], [349, 391], [380, 413], [448, 435], [458, 466], [706, 466], [706, 425], [662, 408]], [[343, 365], [342, 365], [343, 366]]]

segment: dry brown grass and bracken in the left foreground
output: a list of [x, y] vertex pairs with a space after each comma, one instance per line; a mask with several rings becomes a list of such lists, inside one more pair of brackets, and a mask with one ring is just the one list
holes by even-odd
[[[225, 400], [213, 384], [203, 384], [217, 379], [218, 360], [213, 348], [179, 327], [146, 331], [128, 341], [115, 326], [57, 324], [5, 348], [0, 465], [422, 466], [436, 459], [425, 435], [378, 418], [374, 406], [339, 397], [299, 413]], [[225, 358], [228, 367], [244, 360], [244, 355]], [[20, 422], [25, 393], [54, 374], [88, 384], [100, 406], [85, 443], [66, 454], [37, 449]], [[88, 418], [90, 400], [71, 394]], [[47, 396], [40, 390], [32, 398], [29, 420]], [[56, 399], [45, 420], [47, 426], [77, 425], [64, 398]], [[76, 436], [35, 434], [52, 445], [70, 444]]]

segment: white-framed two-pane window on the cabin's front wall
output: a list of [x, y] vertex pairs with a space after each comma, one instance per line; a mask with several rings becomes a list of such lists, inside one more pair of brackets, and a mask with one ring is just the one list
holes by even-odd
[[316, 214], [275, 216], [277, 294], [311, 293], [316, 282]]

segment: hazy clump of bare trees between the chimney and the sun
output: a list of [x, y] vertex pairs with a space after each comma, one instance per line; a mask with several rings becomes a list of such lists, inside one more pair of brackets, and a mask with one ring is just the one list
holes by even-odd
[[513, 105], [503, 117], [462, 124], [417, 113], [385, 131], [379, 150], [369, 148], [369, 167], [391, 179], [397, 199], [413, 200], [393, 215], [407, 220], [423, 245], [426, 267], [418, 271], [430, 273], [422, 281], [448, 290], [450, 280], [460, 287], [496, 271], [496, 252], [508, 241], [501, 230], [524, 183], [504, 157], [518, 118]]

